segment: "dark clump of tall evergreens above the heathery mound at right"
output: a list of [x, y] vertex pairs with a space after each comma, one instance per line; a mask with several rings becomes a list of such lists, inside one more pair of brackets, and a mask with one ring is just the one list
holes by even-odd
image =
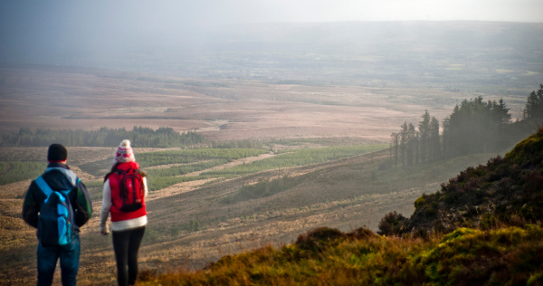
[[[395, 166], [435, 161], [474, 153], [500, 151], [528, 135], [527, 122], [543, 119], [543, 84], [529, 94], [524, 120], [511, 122], [503, 100], [484, 101], [482, 97], [462, 100], [452, 114], [440, 122], [425, 111], [418, 129], [405, 122], [391, 135], [391, 158]], [[540, 123], [540, 122], [539, 122]]]

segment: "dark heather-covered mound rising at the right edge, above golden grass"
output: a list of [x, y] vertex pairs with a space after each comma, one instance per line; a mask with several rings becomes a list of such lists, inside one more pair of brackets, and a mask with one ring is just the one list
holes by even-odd
[[543, 129], [519, 142], [505, 157], [468, 167], [432, 195], [415, 202], [405, 219], [389, 214], [383, 234], [449, 233], [458, 227], [540, 224], [543, 220]]

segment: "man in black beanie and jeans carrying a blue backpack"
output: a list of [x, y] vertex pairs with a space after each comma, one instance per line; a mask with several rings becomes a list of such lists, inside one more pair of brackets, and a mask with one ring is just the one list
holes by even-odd
[[[92, 215], [87, 187], [66, 165], [67, 157], [66, 148], [61, 144], [52, 144], [47, 152], [47, 169], [42, 176], [33, 180], [24, 195], [23, 219], [38, 229], [38, 285], [52, 284], [59, 258], [62, 285], [75, 285], [80, 257], [79, 227], [87, 223]], [[52, 205], [53, 201], [54, 204], [58, 202], [58, 211], [50, 211], [56, 207]], [[50, 214], [57, 215], [57, 212], [60, 217], [61, 210], [67, 214], [63, 216], [67, 227], [61, 227], [62, 224], [58, 223], [57, 230], [57, 218], [54, 225], [48, 224], [46, 220], [51, 217]], [[60, 222], [62, 217], [58, 220]]]

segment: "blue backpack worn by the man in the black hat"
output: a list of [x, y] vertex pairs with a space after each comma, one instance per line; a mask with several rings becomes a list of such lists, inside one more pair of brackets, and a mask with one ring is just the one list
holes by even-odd
[[[77, 181], [80, 181], [79, 178]], [[56, 246], [71, 243], [76, 234], [73, 208], [68, 193], [71, 189], [54, 191], [42, 176], [34, 182], [47, 196], [38, 218], [38, 239], [43, 246]]]

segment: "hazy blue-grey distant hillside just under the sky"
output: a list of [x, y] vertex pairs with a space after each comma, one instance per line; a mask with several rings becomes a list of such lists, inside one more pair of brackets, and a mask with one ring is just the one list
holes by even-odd
[[[3, 62], [54, 65], [59, 64], [55, 59], [62, 58], [61, 64], [68, 66], [187, 78], [252, 79], [310, 86], [439, 84], [450, 91], [483, 93], [499, 87], [495, 91], [503, 95], [538, 84], [543, 73], [540, 23], [267, 23], [223, 25], [192, 32], [182, 37], [167, 33], [166, 38], [149, 42], [105, 41], [107, 48], [100, 45], [100, 50], [92, 51], [83, 45], [85, 49], [74, 47], [70, 54], [36, 45], [39, 50], [31, 49], [24, 61], [12, 57]], [[151, 52], [156, 51], [156, 45], [160, 52]], [[112, 58], [117, 61], [110, 61]]]

